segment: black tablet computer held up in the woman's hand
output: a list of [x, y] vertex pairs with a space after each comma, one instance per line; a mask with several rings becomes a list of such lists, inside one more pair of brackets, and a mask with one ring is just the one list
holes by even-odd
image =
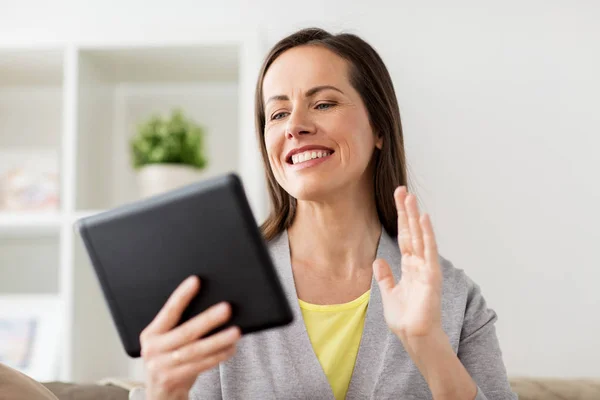
[[291, 307], [242, 183], [230, 173], [75, 223], [126, 353], [190, 275], [200, 291], [179, 324], [227, 301], [242, 333], [287, 325]]

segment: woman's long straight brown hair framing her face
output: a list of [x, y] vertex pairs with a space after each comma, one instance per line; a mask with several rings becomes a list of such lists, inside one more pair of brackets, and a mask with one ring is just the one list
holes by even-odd
[[363, 39], [349, 33], [332, 35], [319, 28], [302, 29], [280, 40], [266, 56], [260, 70], [255, 97], [256, 134], [271, 200], [269, 216], [261, 226], [263, 235], [267, 241], [273, 239], [292, 224], [296, 214], [296, 199], [279, 186], [269, 165], [264, 141], [263, 80], [277, 57], [286, 50], [305, 45], [322, 46], [349, 63], [350, 84], [360, 94], [374, 132], [383, 137], [382, 149], [376, 149], [374, 154], [375, 204], [381, 224], [390, 236], [396, 237], [398, 226], [393, 193], [396, 187], [408, 182], [400, 110], [392, 79], [379, 54]]

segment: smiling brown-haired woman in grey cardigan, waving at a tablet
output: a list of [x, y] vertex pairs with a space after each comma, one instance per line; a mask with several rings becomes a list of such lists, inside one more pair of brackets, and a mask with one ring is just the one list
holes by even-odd
[[[440, 257], [407, 176], [398, 103], [360, 38], [299, 31], [256, 90], [272, 211], [262, 229], [295, 321], [241, 338], [222, 304], [175, 327], [184, 282], [141, 335], [149, 399], [512, 399], [496, 314]], [[396, 240], [397, 238], [397, 240]]]

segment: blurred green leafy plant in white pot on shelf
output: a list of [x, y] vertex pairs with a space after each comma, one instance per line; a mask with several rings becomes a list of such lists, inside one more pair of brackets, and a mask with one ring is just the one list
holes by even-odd
[[180, 109], [168, 118], [153, 115], [141, 123], [130, 149], [141, 197], [195, 182], [207, 166], [204, 129]]

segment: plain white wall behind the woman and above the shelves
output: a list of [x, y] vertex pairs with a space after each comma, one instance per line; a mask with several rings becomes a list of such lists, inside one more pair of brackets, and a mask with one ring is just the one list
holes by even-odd
[[509, 373], [600, 376], [600, 3], [202, 3], [0, 0], [0, 42], [206, 24], [261, 27], [270, 44], [313, 24], [361, 34], [394, 77], [441, 251], [499, 314]]

